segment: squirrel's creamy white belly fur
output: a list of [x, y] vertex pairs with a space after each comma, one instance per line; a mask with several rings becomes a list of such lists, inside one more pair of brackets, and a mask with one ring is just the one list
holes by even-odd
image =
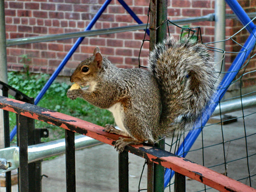
[[114, 119], [115, 119], [115, 123], [116, 125], [123, 131], [125, 131], [127, 134], [129, 134], [123, 124], [123, 107], [120, 103], [116, 103], [114, 105], [112, 105], [110, 108], [108, 108], [108, 110], [110, 112], [113, 113]]

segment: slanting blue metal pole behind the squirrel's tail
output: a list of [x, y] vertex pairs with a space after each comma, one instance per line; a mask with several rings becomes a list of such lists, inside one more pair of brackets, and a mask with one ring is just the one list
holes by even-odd
[[[187, 134], [186, 138], [184, 139], [183, 143], [180, 145], [178, 148], [177, 155], [181, 157], [185, 157], [187, 155], [187, 152], [190, 150], [192, 145], [194, 144], [195, 140], [197, 139], [198, 135], [201, 133], [201, 129], [196, 129], [198, 127], [204, 127], [205, 124], [207, 123], [208, 119], [210, 118], [212, 112], [216, 108], [216, 106], [219, 104], [219, 101], [227, 91], [230, 83], [233, 81], [233, 79], [236, 77], [237, 73], [239, 72], [239, 69], [241, 68], [242, 64], [245, 62], [247, 57], [249, 56], [251, 50], [255, 46], [256, 42], [256, 28], [254, 26], [254, 29], [252, 30], [252, 33], [244, 43], [244, 47], [241, 48], [239, 54], [237, 57], [234, 59], [232, 62], [232, 65], [230, 66], [228, 72], [226, 75], [223, 77], [220, 85], [219, 85], [219, 90], [217, 91], [217, 94], [214, 98], [214, 103], [208, 105], [205, 109], [205, 113], [203, 113], [203, 116], [201, 118], [201, 121], [198, 122], [194, 126], [194, 130], [189, 131]], [[166, 169], [165, 171], [165, 179], [164, 179], [164, 186], [166, 187], [174, 175], [174, 171], [170, 169]]]

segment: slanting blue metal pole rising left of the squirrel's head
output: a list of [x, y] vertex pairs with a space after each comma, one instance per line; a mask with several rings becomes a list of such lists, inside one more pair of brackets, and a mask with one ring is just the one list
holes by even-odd
[[[106, 9], [106, 7], [109, 5], [109, 3], [111, 2], [111, 0], [106, 0], [104, 2], [104, 4], [101, 6], [101, 8], [99, 9], [99, 11], [96, 13], [96, 15], [92, 18], [91, 22], [89, 23], [89, 25], [84, 29], [84, 31], [86, 30], [90, 30], [93, 25], [96, 23], [96, 21], [99, 19], [99, 17], [101, 16], [101, 14], [104, 12], [104, 10]], [[77, 41], [75, 42], [75, 44], [72, 46], [72, 48], [69, 50], [69, 52], [67, 53], [67, 55], [65, 56], [65, 58], [61, 61], [60, 65], [57, 67], [57, 69], [54, 71], [54, 73], [51, 75], [51, 77], [49, 78], [49, 80], [46, 82], [45, 86], [41, 89], [41, 91], [38, 93], [37, 97], [35, 98], [35, 105], [38, 104], [38, 102], [40, 101], [40, 99], [43, 97], [43, 95], [45, 94], [45, 92], [47, 91], [47, 89], [50, 87], [50, 85], [52, 84], [52, 82], [56, 79], [56, 77], [58, 76], [58, 74], [60, 73], [60, 71], [63, 69], [63, 67], [66, 65], [66, 63], [68, 62], [68, 60], [70, 59], [70, 57], [73, 55], [73, 53], [76, 51], [76, 49], [78, 48], [78, 46], [80, 45], [80, 43], [83, 41], [84, 37], [79, 37], [77, 39]], [[14, 129], [11, 131], [10, 133], [10, 140], [13, 140], [13, 137], [16, 135], [17, 133], [17, 127], [15, 126]]]

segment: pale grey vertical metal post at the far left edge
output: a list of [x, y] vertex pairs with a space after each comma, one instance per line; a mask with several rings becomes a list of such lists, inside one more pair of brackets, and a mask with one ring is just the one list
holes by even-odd
[[[0, 81], [7, 83], [4, 1], [0, 1], [0, 45]], [[0, 95], [3, 95], [2, 90], [0, 90]], [[2, 109], [0, 110], [0, 149], [1, 148], [4, 148], [4, 114]]]

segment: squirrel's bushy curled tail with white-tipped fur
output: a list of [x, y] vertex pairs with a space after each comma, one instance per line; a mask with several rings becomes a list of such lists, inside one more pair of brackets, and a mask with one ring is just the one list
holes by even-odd
[[149, 68], [162, 97], [161, 134], [191, 129], [216, 92], [218, 73], [206, 47], [189, 38], [167, 38], [150, 53]]

